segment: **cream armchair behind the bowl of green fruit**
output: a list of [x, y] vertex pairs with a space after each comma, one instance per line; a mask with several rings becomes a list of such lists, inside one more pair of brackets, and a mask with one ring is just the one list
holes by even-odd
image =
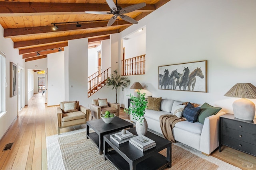
[[90, 110], [92, 117], [96, 119], [100, 119], [100, 115], [106, 111], [110, 111], [110, 113], [119, 117], [120, 104], [109, 103], [107, 99], [94, 99], [92, 100], [92, 104], [90, 104]]

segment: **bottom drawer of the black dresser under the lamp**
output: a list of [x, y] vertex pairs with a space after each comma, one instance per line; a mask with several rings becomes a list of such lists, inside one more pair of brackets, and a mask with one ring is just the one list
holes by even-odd
[[239, 141], [230, 137], [222, 136], [222, 144], [238, 149], [250, 154], [256, 155], [256, 147], [250, 143]]

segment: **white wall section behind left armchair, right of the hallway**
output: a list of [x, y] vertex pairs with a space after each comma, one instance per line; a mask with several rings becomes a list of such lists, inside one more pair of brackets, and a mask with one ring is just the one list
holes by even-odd
[[47, 106], [55, 106], [64, 101], [64, 51], [48, 54], [47, 63]]

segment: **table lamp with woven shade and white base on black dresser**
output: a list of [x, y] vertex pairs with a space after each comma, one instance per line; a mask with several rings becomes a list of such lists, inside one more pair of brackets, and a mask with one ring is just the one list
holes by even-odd
[[[233, 103], [234, 117], [252, 121], [255, 104], [248, 99], [256, 99], [256, 87], [251, 83], [237, 83], [224, 96], [241, 98]], [[247, 99], [246, 99], [247, 98]]]

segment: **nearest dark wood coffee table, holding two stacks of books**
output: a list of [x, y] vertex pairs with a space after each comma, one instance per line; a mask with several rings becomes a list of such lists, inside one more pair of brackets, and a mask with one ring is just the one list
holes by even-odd
[[[128, 131], [137, 135], [135, 128], [128, 129]], [[117, 169], [156, 170], [172, 166], [172, 143], [170, 141], [148, 131], [146, 137], [155, 141], [156, 147], [142, 152], [129, 142], [118, 145], [110, 139], [110, 135], [104, 136], [104, 160], [110, 160]], [[114, 150], [108, 151], [108, 146]], [[167, 157], [158, 153], [163, 149], [167, 150]]]

